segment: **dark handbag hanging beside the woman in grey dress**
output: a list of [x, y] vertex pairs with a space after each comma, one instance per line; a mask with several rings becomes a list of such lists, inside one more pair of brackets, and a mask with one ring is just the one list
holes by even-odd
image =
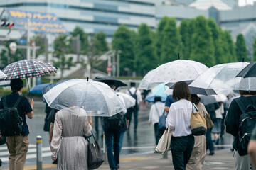
[[[92, 137], [95, 140], [95, 137], [92, 133]], [[95, 142], [91, 142], [90, 140], [86, 137], [88, 141], [88, 154], [87, 154], [87, 164], [88, 164], [88, 169], [98, 169], [104, 162], [102, 150], [100, 147], [100, 143], [95, 140]]]

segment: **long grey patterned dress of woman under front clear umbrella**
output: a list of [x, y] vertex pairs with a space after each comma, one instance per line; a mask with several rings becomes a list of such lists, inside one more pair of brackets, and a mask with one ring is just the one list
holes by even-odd
[[55, 116], [53, 140], [50, 143], [52, 157], [58, 157], [58, 169], [82, 170], [87, 167], [87, 140], [92, 126], [82, 108], [63, 108]]

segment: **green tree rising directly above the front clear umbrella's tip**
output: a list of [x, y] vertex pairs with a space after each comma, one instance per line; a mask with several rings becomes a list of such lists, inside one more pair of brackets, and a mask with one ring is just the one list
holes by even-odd
[[90, 39], [90, 50], [87, 52], [88, 64], [90, 64], [90, 78], [92, 78], [93, 69], [103, 62], [100, 56], [109, 50], [106, 38], [107, 35], [105, 33], [99, 32]]

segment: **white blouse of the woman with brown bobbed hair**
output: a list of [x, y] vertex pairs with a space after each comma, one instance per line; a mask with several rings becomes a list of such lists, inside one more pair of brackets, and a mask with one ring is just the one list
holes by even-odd
[[[194, 110], [196, 111], [196, 109]], [[166, 118], [166, 127], [170, 125], [174, 137], [191, 135], [192, 103], [181, 99], [170, 106]]]

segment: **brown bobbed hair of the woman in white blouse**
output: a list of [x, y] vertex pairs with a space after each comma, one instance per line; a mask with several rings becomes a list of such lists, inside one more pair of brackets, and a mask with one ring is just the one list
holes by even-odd
[[188, 88], [188, 84], [185, 81], [179, 81], [174, 85], [173, 98], [174, 100], [180, 100], [184, 98], [186, 100], [190, 100], [190, 90]]

